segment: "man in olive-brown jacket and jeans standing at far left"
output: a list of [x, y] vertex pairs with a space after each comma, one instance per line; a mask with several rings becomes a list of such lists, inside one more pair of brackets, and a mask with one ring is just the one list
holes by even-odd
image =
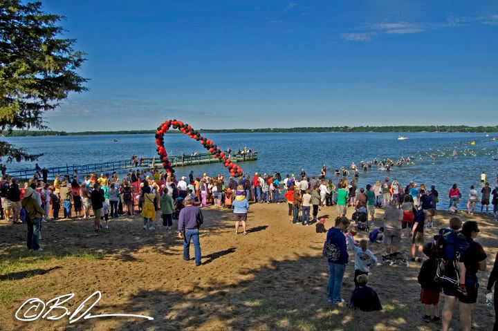
[[22, 201], [22, 207], [26, 209], [27, 217], [26, 224], [28, 225], [28, 235], [26, 236], [26, 244], [29, 249], [34, 249], [39, 252], [43, 249], [39, 247], [39, 231], [42, 226], [42, 216], [44, 210], [38, 204], [35, 196], [35, 190], [27, 187]]

